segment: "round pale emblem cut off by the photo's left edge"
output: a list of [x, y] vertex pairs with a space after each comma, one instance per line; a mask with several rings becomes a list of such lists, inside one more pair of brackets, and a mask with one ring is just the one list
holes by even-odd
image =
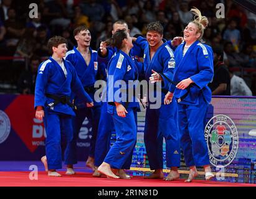
[[6, 141], [11, 131], [11, 123], [7, 114], [0, 110], [0, 144]]

